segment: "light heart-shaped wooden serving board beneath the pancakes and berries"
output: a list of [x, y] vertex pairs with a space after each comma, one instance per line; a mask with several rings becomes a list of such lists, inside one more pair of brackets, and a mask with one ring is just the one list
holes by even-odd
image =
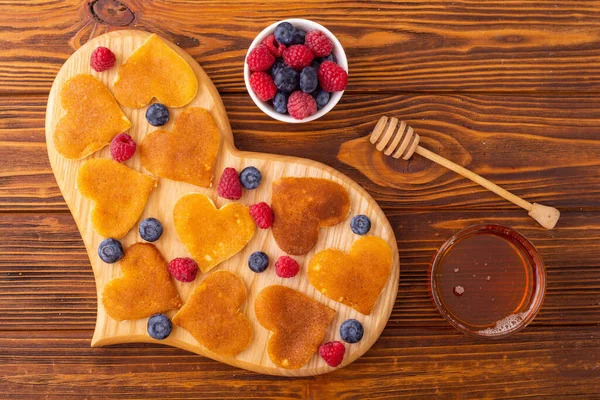
[[[46, 141], [48, 144], [48, 155], [58, 185], [69, 205], [81, 236], [83, 237], [83, 241], [85, 242], [94, 269], [98, 299], [101, 297], [104, 286], [110, 280], [121, 276], [121, 272], [118, 263], [114, 265], [105, 264], [99, 259], [96, 252], [98, 244], [104, 238], [94, 232], [89, 221], [90, 210], [93, 206], [92, 202], [82, 197], [75, 187], [77, 169], [84, 160], [68, 160], [54, 150], [52, 134], [57, 121], [64, 115], [64, 110], [62, 110], [60, 106], [58, 93], [67, 79], [80, 73], [90, 73], [104, 82], [109, 89], [112, 89], [112, 82], [114, 81], [118, 70], [117, 66], [123, 63], [148, 36], [149, 33], [141, 31], [116, 31], [94, 38], [77, 50], [65, 62], [54, 81], [48, 99], [48, 108], [46, 112]], [[240, 202], [247, 205], [260, 201], [270, 203], [271, 184], [273, 181], [283, 176], [319, 177], [331, 179], [342, 184], [350, 194], [351, 209], [346, 220], [335, 227], [321, 229], [319, 241], [313, 250], [304, 256], [294, 257], [301, 265], [300, 273], [294, 278], [283, 279], [275, 275], [273, 268], [274, 261], [284, 253], [277, 247], [270, 229], [258, 229], [254, 238], [242, 251], [213, 269], [213, 271], [222, 269], [237, 273], [243, 279], [247, 288], [248, 297], [242, 311], [252, 322], [254, 338], [250, 347], [240, 353], [237, 357], [220, 357], [208, 351], [187, 331], [177, 326], [174, 327], [173, 333], [167, 339], [163, 341], [153, 340], [146, 333], [147, 319], [124, 322], [115, 321], [106, 314], [101, 301], [98, 301], [98, 314], [92, 346], [104, 346], [128, 342], [162, 343], [193, 351], [227, 364], [274, 375], [317, 375], [333, 370], [333, 368], [327, 366], [317, 354], [315, 354], [305, 366], [297, 370], [278, 368], [269, 359], [266, 352], [269, 332], [256, 321], [253, 304], [256, 295], [264, 287], [280, 284], [299, 290], [337, 311], [336, 316], [325, 335], [324, 341], [341, 340], [339, 326], [348, 318], [355, 318], [363, 323], [365, 327], [363, 339], [358, 344], [346, 345], [344, 361], [338, 368], [351, 363], [364, 354], [373, 343], [375, 343], [389, 319], [396, 299], [400, 274], [398, 249], [393, 230], [385, 215], [377, 203], [359, 185], [326, 165], [305, 159], [241, 152], [237, 150], [233, 144], [233, 135], [227, 119], [225, 107], [210, 78], [186, 52], [172, 43], [167, 43], [188, 61], [194, 69], [200, 83], [196, 98], [186, 107], [200, 106], [208, 109], [214, 116], [221, 130], [221, 148], [215, 166], [216, 176], [218, 177], [225, 167], [235, 167], [240, 171], [249, 165], [259, 168], [263, 174], [263, 181], [260, 187], [253, 191], [244, 191]], [[102, 73], [97, 73], [90, 68], [90, 54], [97, 46], [106, 46], [116, 54], [116, 67]], [[240, 70], [243, 68], [242, 65], [239, 67]], [[130, 129], [129, 134], [138, 144], [146, 134], [156, 129], [149, 125], [145, 119], [144, 114], [146, 107], [139, 109], [122, 107], [122, 109], [132, 122], [132, 128]], [[171, 109], [172, 117], [169, 123], [163, 128], [170, 130], [172, 121], [183, 109], [185, 109], [185, 107], [181, 109]], [[282, 126], [282, 130], [284, 129], [285, 126]], [[318, 149], [315, 149], [315, 151], [318, 151]], [[96, 152], [88, 157], [88, 159], [94, 157], [110, 158], [108, 147]], [[149, 173], [142, 167], [139, 154], [137, 153], [132, 159], [126, 162], [126, 165], [138, 171]], [[170, 260], [175, 257], [189, 256], [185, 247], [177, 238], [173, 226], [172, 210], [177, 199], [190, 192], [200, 192], [210, 196], [217, 207], [220, 207], [228, 201], [217, 196], [214, 186], [216, 186], [215, 181], [213, 181], [213, 188], [205, 189], [187, 183], [175, 182], [164, 178], [159, 179], [158, 186], [150, 195], [141, 219], [155, 217], [163, 223], [164, 234], [157, 242], [155, 242], [155, 245], [161, 251], [165, 259]], [[359, 238], [359, 236], [353, 234], [349, 228], [350, 218], [359, 213], [366, 214], [371, 218], [373, 227], [370, 234], [382, 237], [388, 241], [394, 252], [394, 265], [389, 280], [372, 314], [369, 316], [362, 315], [348, 306], [323, 296], [310, 285], [307, 278], [308, 261], [316, 252], [330, 247], [348, 251], [352, 243]], [[124, 248], [127, 248], [130, 244], [138, 241], [142, 241], [142, 239], [139, 237], [136, 225], [122, 239], [122, 243]], [[271, 265], [266, 272], [255, 274], [248, 268], [247, 259], [252, 252], [259, 250], [264, 251], [269, 255]], [[193, 289], [205, 276], [206, 274], [199, 274], [196, 281], [192, 283], [176, 282], [177, 289], [183, 301], [188, 298]], [[173, 316], [174, 313], [175, 310], [168, 314]]]

